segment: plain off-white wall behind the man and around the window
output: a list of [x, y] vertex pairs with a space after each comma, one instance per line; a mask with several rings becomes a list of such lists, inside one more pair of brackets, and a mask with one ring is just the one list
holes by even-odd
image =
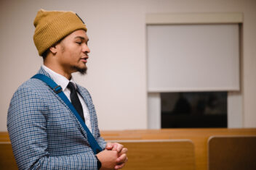
[[147, 13], [244, 12], [241, 56], [243, 126], [256, 127], [255, 0], [0, 1], [0, 131], [6, 131], [9, 101], [41, 65], [33, 45], [38, 9], [71, 10], [86, 22], [89, 70], [77, 82], [92, 94], [100, 129], [147, 128]]

